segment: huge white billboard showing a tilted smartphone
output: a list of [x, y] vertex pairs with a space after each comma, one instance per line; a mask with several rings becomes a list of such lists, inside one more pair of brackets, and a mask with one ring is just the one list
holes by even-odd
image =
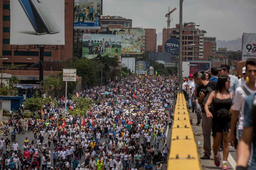
[[65, 0], [11, 0], [10, 44], [64, 45]]

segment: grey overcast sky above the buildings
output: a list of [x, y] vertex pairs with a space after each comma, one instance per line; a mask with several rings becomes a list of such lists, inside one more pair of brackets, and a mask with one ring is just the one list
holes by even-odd
[[[168, 7], [177, 10], [171, 28], [179, 23], [179, 0], [103, 0], [103, 15], [132, 19], [133, 27], [167, 27]], [[184, 0], [183, 23], [194, 22], [217, 40], [233, 40], [245, 33], [256, 33], [256, 0]]]

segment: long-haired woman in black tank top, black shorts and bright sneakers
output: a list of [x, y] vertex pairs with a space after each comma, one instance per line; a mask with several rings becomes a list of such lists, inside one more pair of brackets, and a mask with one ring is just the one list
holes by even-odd
[[[223, 161], [222, 169], [228, 169], [227, 158], [229, 154], [228, 134], [231, 128], [231, 115], [229, 110], [232, 105], [233, 93], [229, 92], [230, 78], [229, 76], [221, 76], [218, 78], [216, 91], [211, 92], [206, 104], [205, 112], [209, 119], [212, 119], [212, 135], [213, 135], [213, 153], [214, 163], [220, 166], [219, 147], [221, 138], [223, 138]], [[213, 102], [213, 113], [209, 111], [209, 106]]]

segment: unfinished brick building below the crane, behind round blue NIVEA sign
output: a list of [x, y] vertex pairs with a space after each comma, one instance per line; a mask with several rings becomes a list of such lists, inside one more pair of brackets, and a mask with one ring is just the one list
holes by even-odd
[[[195, 23], [184, 23], [183, 28], [185, 28], [182, 33], [182, 47], [187, 44], [195, 44], [194, 46], [186, 46], [183, 48], [183, 61], [186, 60], [199, 60], [199, 40], [200, 40], [200, 31], [199, 29], [195, 28], [195, 25], [190, 25]], [[188, 26], [190, 25], [190, 26]], [[187, 27], [188, 26], [188, 27]], [[179, 37], [179, 24], [176, 24], [175, 28], [169, 29], [170, 38], [174, 38], [180, 40]], [[163, 44], [167, 41], [167, 29], [163, 29]], [[165, 50], [163, 49], [163, 52]]]

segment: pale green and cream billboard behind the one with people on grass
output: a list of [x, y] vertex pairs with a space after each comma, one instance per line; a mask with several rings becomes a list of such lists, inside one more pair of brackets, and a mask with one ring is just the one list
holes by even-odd
[[110, 28], [113, 35], [121, 35], [122, 54], [142, 54], [144, 29]]

